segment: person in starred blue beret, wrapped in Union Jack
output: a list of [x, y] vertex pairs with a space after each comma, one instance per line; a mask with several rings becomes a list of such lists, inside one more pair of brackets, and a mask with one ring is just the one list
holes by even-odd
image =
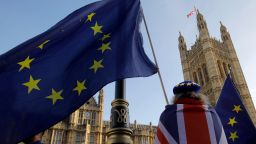
[[200, 90], [192, 81], [173, 88], [173, 104], [160, 116], [155, 144], [227, 144], [221, 121]]

